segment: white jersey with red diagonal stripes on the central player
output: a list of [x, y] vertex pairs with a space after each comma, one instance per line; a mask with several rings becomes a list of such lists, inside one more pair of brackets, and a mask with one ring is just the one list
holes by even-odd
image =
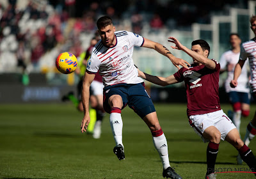
[[105, 47], [101, 40], [95, 45], [86, 72], [96, 74], [99, 70], [104, 86], [143, 82], [138, 77], [132, 53], [134, 46], [143, 45], [144, 38], [128, 31], [116, 31], [115, 38], [116, 44], [113, 47]]

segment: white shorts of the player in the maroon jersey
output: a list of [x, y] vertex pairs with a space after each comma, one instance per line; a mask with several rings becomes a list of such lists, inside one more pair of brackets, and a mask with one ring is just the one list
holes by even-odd
[[221, 140], [225, 140], [228, 132], [233, 128], [236, 128], [234, 123], [228, 118], [228, 116], [221, 109], [220, 111], [214, 111], [207, 114], [196, 114], [189, 116], [190, 125], [194, 128], [196, 134], [202, 138], [204, 143], [209, 142], [208, 139], [205, 139], [202, 134], [204, 130], [210, 126], [216, 127], [221, 133]]

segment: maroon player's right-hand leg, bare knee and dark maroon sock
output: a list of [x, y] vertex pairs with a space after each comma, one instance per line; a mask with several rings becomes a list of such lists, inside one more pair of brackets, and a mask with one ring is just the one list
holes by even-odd
[[246, 144], [244, 144], [244, 142], [241, 140], [239, 132], [237, 131], [236, 128], [228, 132], [225, 140], [228, 141], [228, 143], [232, 144], [238, 150], [244, 162], [246, 162], [250, 169], [252, 169], [252, 171], [255, 172], [256, 159], [252, 153], [252, 150], [250, 150], [250, 148], [248, 148], [248, 146], [246, 146]]

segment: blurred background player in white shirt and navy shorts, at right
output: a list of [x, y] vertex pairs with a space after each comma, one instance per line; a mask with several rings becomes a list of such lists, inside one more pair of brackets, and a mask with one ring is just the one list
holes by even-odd
[[225, 89], [233, 108], [232, 116], [229, 117], [239, 131], [241, 116], [247, 117], [250, 114], [249, 73], [248, 68], [246, 68], [248, 63], [244, 65], [241, 75], [237, 79], [237, 87], [231, 88], [230, 81], [234, 77], [234, 69], [240, 55], [241, 38], [237, 33], [230, 34], [230, 45], [231, 49], [224, 52], [220, 58], [220, 74], [225, 71], [228, 73], [225, 81]]

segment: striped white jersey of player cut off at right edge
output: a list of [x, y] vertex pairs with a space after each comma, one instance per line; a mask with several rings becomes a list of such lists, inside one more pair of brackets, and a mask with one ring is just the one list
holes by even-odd
[[253, 92], [256, 92], [256, 42], [255, 38], [244, 42], [241, 46], [240, 59], [249, 59], [251, 80], [250, 86]]

